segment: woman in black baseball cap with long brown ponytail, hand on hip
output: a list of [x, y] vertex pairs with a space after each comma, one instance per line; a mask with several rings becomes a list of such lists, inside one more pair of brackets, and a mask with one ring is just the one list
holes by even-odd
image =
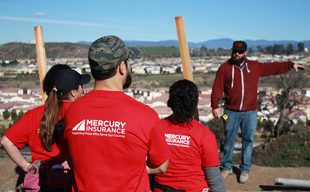
[[[53, 88], [46, 103], [27, 111], [1, 140], [10, 158], [28, 173], [20, 185], [27, 190], [71, 191], [72, 175], [64, 174], [60, 165], [69, 156], [64, 140], [63, 118], [69, 105], [82, 95], [82, 85], [88, 83], [91, 77], [80, 75], [72, 69], [57, 71], [47, 79]], [[31, 164], [19, 152], [27, 143], [32, 156]]]

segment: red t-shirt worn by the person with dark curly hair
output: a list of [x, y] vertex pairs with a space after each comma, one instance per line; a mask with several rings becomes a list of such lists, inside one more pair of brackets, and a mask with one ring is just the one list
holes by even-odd
[[220, 165], [215, 135], [195, 119], [190, 127], [172, 124], [171, 119], [160, 121], [170, 156], [166, 173], [156, 174], [155, 181], [186, 191], [209, 188], [202, 167]]

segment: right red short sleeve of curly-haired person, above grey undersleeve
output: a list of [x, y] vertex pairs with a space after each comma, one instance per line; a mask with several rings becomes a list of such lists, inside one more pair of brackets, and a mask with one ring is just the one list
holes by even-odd
[[[210, 131], [211, 132], [211, 131]], [[202, 141], [202, 166], [212, 167], [220, 165], [215, 135], [213, 133], [204, 136]]]

